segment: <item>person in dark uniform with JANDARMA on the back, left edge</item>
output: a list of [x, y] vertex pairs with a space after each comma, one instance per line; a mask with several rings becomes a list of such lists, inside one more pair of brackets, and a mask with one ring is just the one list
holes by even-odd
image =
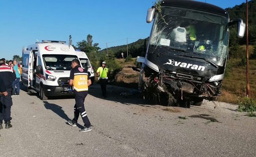
[[[16, 80], [15, 72], [13, 68], [7, 66], [3, 59], [0, 60], [0, 77], [4, 80], [7, 95], [0, 95], [0, 127], [2, 126], [3, 120], [6, 124], [6, 129], [12, 127], [11, 125], [11, 106], [13, 101], [11, 99], [11, 90], [13, 81]], [[2, 128], [2, 127], [1, 127]]]

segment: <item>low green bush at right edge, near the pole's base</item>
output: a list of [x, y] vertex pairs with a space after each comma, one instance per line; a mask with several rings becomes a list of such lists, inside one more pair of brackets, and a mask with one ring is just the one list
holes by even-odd
[[238, 109], [237, 109], [237, 111], [239, 111], [239, 112], [243, 112], [243, 111], [254, 112], [254, 111], [256, 111], [256, 101], [251, 98], [247, 98], [247, 97], [244, 97], [243, 99], [238, 98], [237, 104], [239, 105]]

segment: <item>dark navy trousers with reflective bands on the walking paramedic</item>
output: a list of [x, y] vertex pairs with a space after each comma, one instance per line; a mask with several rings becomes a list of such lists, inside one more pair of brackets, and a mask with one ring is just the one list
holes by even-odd
[[91, 123], [88, 119], [88, 116], [87, 116], [85, 108], [84, 108], [84, 100], [85, 100], [85, 97], [87, 96], [87, 94], [88, 94], [88, 91], [74, 90], [76, 104], [74, 106], [74, 119], [72, 121], [73, 121], [73, 123], [77, 123], [77, 120], [78, 120], [78, 117], [80, 114], [82, 117], [84, 126], [89, 128], [89, 126], [91, 126]]

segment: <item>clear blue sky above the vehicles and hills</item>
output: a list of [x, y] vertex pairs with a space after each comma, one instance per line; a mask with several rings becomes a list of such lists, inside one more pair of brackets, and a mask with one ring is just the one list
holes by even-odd
[[[197, 0], [205, 2], [205, 0]], [[0, 0], [0, 58], [22, 56], [37, 40], [69, 41], [93, 36], [101, 49], [125, 45], [150, 35], [147, 9], [154, 0]], [[221, 8], [246, 0], [206, 0]]]

